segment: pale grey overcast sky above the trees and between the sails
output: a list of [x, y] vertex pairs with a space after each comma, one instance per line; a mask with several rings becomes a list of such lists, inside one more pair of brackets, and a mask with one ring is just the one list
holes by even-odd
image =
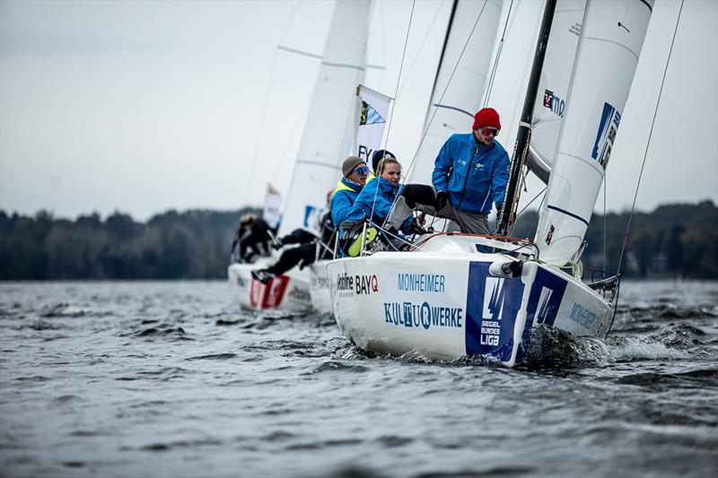
[[[609, 163], [609, 210], [633, 201], [679, 6], [654, 6]], [[398, 99], [389, 146], [400, 159], [416, 150], [449, 8], [416, 4], [399, 79], [412, 4], [373, 9], [369, 63], [381, 68], [365, 83]], [[0, 208], [144, 220], [171, 208], [261, 204], [267, 181], [285, 191], [318, 60], [277, 46], [320, 55], [332, 9], [331, 1], [0, 1]], [[687, 0], [639, 209], [718, 202], [717, 32], [718, 2]], [[512, 135], [499, 138], [509, 151]]]

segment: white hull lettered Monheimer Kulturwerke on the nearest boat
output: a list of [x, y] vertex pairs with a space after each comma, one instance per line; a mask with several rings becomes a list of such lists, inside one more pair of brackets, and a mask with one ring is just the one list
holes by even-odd
[[372, 352], [434, 360], [482, 355], [508, 367], [521, 363], [531, 327], [606, 335], [613, 309], [595, 291], [530, 260], [520, 276], [495, 277], [489, 266], [508, 256], [477, 252], [472, 238], [434, 236], [421, 252], [331, 261], [338, 326]]

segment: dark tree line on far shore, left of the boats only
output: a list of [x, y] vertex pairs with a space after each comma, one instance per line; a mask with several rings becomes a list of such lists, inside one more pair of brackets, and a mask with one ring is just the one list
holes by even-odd
[[261, 211], [169, 211], [147, 222], [0, 211], [0, 280], [220, 278], [243, 213]]

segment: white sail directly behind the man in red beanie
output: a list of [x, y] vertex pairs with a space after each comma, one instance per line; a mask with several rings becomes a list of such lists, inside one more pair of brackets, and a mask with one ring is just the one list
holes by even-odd
[[407, 173], [407, 182], [431, 184], [433, 160], [443, 143], [452, 134], [471, 128], [486, 91], [500, 15], [498, 2], [460, 0], [457, 3], [433, 86], [426, 117], [428, 129]]

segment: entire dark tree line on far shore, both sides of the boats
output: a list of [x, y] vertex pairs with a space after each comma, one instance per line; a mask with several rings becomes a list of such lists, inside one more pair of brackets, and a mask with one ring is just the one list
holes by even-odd
[[[135, 222], [123, 213], [76, 220], [40, 211], [34, 217], [0, 210], [0, 280], [221, 279], [243, 213], [190, 210]], [[582, 260], [586, 275], [615, 272], [628, 213], [594, 214]], [[514, 236], [533, 237], [538, 214], [521, 215]], [[710, 201], [670, 204], [635, 213], [623, 270], [628, 277], [718, 278], [718, 208]]]

